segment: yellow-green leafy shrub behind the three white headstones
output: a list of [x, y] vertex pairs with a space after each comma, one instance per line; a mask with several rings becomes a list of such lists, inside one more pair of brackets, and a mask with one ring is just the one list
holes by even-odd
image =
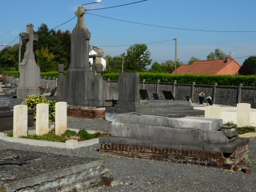
[[55, 100], [46, 99], [44, 96], [31, 95], [25, 99], [25, 104], [29, 109], [34, 109], [34, 118], [36, 116], [36, 104], [46, 103], [49, 104], [49, 122], [55, 121]]

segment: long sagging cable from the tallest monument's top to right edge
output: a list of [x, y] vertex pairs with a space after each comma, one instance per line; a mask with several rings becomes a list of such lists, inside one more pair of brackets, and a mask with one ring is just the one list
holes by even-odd
[[151, 27], [155, 27], [155, 28], [177, 29], [177, 30], [185, 30], [185, 31], [213, 32], [213, 33], [256, 33], [256, 31], [216, 31], [216, 30], [205, 30], [205, 29], [174, 28], [174, 27], [169, 27], [169, 26], [157, 26], [157, 25], [154, 25], [154, 24], [147, 24], [147, 23], [142, 23], [142, 22], [133, 22], [133, 21], [130, 21], [130, 20], [115, 19], [115, 18], [106, 17], [106, 16], [102, 16], [102, 15], [96, 15], [96, 14], [87, 13], [87, 12], [86, 12], [86, 14], [94, 15], [94, 16], [97, 16], [97, 17], [102, 17], [104, 19], [118, 20], [118, 21], [128, 22], [128, 23], [132, 23], [132, 24], [138, 24], [138, 25], [143, 25], [143, 26], [151, 26]]

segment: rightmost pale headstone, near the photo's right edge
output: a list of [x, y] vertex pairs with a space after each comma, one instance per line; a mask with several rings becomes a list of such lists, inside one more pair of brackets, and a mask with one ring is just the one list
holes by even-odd
[[251, 125], [251, 104], [239, 103], [237, 104], [236, 113], [237, 127], [248, 127]]

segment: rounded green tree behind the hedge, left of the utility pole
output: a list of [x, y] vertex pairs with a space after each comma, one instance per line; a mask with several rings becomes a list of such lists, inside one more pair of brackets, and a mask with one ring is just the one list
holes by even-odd
[[147, 70], [150, 65], [150, 51], [146, 44], [134, 44], [127, 49], [124, 60], [124, 70], [127, 72], [140, 72]]

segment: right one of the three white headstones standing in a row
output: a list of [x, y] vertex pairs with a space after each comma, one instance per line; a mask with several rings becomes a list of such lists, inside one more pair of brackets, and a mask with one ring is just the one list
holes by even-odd
[[55, 134], [61, 135], [67, 130], [67, 102], [55, 104]]

